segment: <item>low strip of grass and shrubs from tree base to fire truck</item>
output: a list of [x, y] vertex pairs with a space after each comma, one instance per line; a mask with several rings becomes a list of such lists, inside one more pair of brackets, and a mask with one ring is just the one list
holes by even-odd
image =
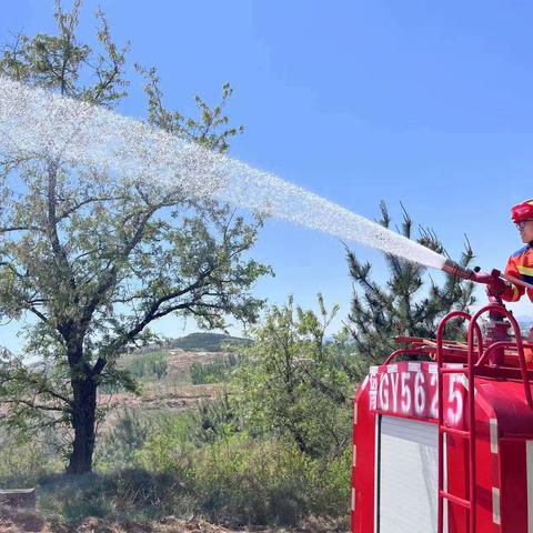
[[228, 525], [348, 516], [348, 453], [314, 460], [286, 441], [240, 434], [187, 454], [188, 467], [181, 462], [157, 472], [129, 467], [48, 476], [40, 486], [40, 509], [71, 526], [88, 516], [142, 521], [194, 514]]

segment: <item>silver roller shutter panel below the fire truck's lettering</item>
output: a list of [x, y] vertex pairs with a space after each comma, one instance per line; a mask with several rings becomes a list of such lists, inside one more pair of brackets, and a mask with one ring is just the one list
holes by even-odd
[[379, 533], [436, 532], [436, 424], [382, 416]]

